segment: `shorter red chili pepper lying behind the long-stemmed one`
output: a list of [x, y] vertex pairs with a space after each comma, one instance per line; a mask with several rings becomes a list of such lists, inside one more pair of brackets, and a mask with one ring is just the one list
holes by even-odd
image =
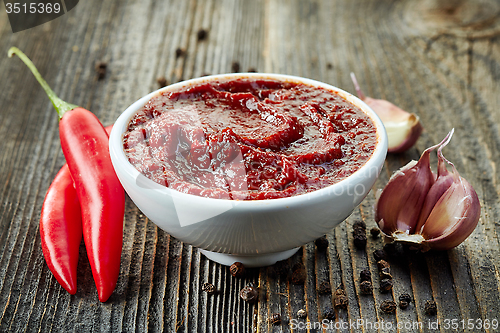
[[[106, 127], [109, 134], [113, 126]], [[42, 251], [59, 284], [76, 293], [82, 213], [68, 165], [64, 164], [47, 191], [40, 217]]]

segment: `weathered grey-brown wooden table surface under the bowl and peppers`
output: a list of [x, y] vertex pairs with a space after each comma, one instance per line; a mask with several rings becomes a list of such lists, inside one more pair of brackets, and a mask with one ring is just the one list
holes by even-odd
[[[15, 34], [1, 7], [0, 332], [371, 332], [370, 324], [380, 332], [451, 332], [452, 323], [457, 331], [496, 331], [498, 1], [86, 0], [56, 20]], [[74, 296], [59, 286], [43, 258], [40, 211], [64, 156], [56, 114], [22, 62], [7, 58], [10, 46], [36, 63], [61, 98], [92, 110], [105, 125], [157, 89], [161, 77], [173, 83], [257, 70], [354, 92], [352, 71], [367, 95], [415, 112], [425, 130], [413, 148], [387, 157], [368, 197], [328, 233], [327, 250], [318, 251], [314, 242], [304, 245], [282, 264], [284, 274], [271, 266], [234, 278], [227, 267], [159, 230], [127, 198], [118, 285], [109, 301], [100, 303], [83, 243]], [[185, 54], [176, 56], [177, 49]], [[102, 79], [98, 62], [107, 63]], [[394, 252], [389, 259], [394, 288], [382, 294], [372, 252], [383, 240], [369, 238], [366, 251], [358, 250], [352, 225], [363, 220], [374, 227], [375, 189], [452, 128], [455, 135], [444, 153], [479, 195], [479, 224], [447, 252]], [[307, 280], [297, 285], [289, 271], [299, 262]], [[372, 273], [373, 295], [360, 294], [359, 272], [365, 268]], [[307, 329], [333, 306], [333, 291], [317, 291], [325, 281], [332, 290], [345, 290], [347, 309], [336, 309], [333, 324]], [[219, 292], [207, 295], [201, 290], [205, 282]], [[259, 287], [256, 305], [238, 297], [250, 282]], [[408, 309], [380, 310], [384, 300], [397, 301], [402, 293], [413, 298]], [[427, 300], [437, 303], [437, 315], [424, 313]], [[297, 319], [299, 309], [307, 311], [307, 319]], [[273, 313], [281, 315], [281, 324], [270, 324]], [[439, 328], [433, 326], [437, 320]], [[359, 325], [347, 326], [352, 322]]]

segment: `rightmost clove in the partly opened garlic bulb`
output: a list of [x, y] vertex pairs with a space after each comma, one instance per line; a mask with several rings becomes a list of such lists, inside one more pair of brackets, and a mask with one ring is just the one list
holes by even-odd
[[476, 191], [459, 177], [436, 203], [422, 229], [426, 247], [449, 250], [459, 245], [474, 231], [480, 214]]

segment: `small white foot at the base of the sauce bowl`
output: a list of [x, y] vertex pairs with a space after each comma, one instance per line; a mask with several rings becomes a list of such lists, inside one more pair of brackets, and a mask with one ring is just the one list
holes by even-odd
[[296, 247], [291, 250], [286, 250], [283, 252], [274, 252], [274, 253], [266, 253], [258, 255], [227, 254], [227, 253], [211, 252], [202, 249], [200, 249], [200, 252], [204, 254], [208, 259], [226, 266], [230, 266], [233, 263], [239, 261], [246, 267], [264, 267], [273, 265], [277, 261], [290, 258], [299, 249], [300, 247]]

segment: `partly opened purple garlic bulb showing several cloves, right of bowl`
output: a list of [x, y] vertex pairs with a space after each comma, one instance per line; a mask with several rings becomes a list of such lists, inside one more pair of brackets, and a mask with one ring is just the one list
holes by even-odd
[[[481, 212], [479, 198], [442, 153], [453, 132], [427, 148], [418, 162], [411, 161], [396, 171], [380, 193], [375, 221], [389, 239], [416, 245], [422, 251], [448, 250], [474, 231]], [[430, 152], [435, 149], [437, 174], [430, 167]]]

